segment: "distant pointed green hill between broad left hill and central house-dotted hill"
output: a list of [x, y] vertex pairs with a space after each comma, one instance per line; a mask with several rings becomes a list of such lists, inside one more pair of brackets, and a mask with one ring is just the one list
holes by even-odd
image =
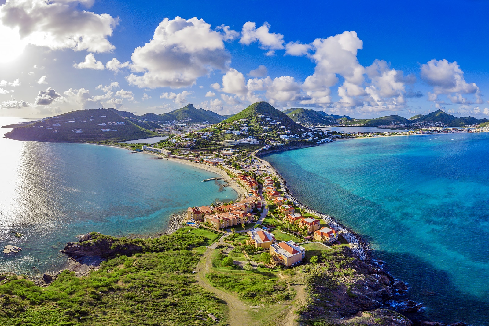
[[213, 111], [208, 111], [204, 109], [196, 109], [192, 104], [188, 104], [183, 108], [174, 110], [172, 112], [163, 113], [161, 115], [156, 115], [154, 113], [147, 113], [140, 116], [141, 118], [148, 121], [175, 121], [187, 119], [189, 123], [218, 123], [224, 120], [223, 116], [218, 115]]

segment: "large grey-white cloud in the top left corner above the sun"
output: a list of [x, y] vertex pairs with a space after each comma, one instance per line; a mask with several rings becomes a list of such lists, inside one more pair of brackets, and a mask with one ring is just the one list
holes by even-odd
[[79, 9], [80, 5], [92, 4], [93, 0], [7, 0], [0, 6], [0, 29], [11, 35], [10, 41], [17, 42], [17, 49], [32, 44], [50, 49], [110, 51], [114, 46], [107, 38], [118, 18]]

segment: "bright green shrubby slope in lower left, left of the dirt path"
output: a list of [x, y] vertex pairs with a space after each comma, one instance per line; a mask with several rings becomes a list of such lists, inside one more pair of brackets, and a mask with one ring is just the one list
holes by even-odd
[[84, 278], [64, 271], [47, 287], [3, 274], [0, 325], [216, 325], [207, 313], [220, 318], [225, 305], [192, 274], [202, 248], [195, 246], [209, 239], [188, 231], [138, 239], [140, 253], [111, 258]]

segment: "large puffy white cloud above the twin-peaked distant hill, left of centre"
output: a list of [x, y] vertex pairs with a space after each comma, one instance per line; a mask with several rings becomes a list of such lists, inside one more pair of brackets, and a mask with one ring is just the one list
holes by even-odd
[[227, 70], [231, 56], [224, 48], [229, 32], [213, 30], [197, 17], [189, 20], [165, 18], [155, 30], [153, 39], [137, 47], [127, 81], [144, 88], [192, 86], [197, 78], [212, 70]]

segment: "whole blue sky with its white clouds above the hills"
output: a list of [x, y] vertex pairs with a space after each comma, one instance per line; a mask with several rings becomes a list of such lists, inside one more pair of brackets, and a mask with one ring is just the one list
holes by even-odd
[[207, 2], [0, 0], [0, 116], [489, 116], [488, 1]]

